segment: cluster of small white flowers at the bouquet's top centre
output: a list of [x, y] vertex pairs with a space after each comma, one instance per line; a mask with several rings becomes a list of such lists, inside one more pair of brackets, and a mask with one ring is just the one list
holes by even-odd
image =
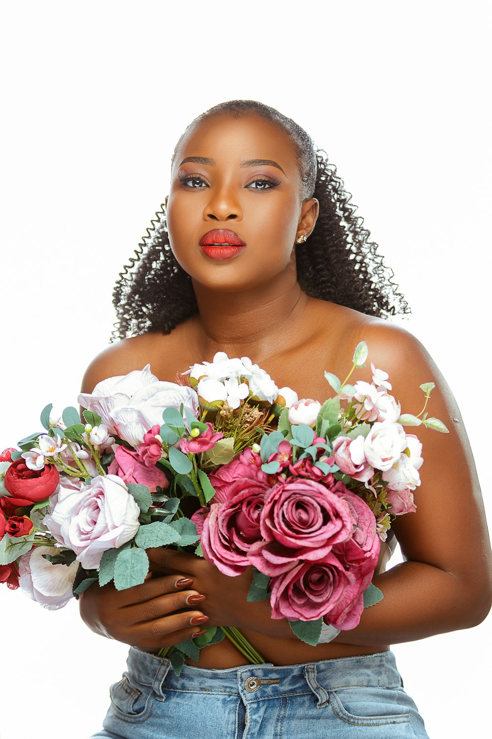
[[193, 364], [184, 374], [196, 384], [198, 398], [205, 406], [219, 407], [227, 401], [236, 409], [246, 398], [273, 404], [279, 395], [287, 407], [297, 401], [294, 390], [278, 389], [270, 375], [249, 357], [229, 359], [225, 352], [217, 352], [211, 362]]

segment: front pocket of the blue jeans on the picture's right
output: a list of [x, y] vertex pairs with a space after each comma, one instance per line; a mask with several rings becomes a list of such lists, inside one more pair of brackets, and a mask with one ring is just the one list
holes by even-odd
[[411, 699], [401, 689], [350, 687], [330, 690], [328, 695], [333, 713], [353, 726], [410, 723]]

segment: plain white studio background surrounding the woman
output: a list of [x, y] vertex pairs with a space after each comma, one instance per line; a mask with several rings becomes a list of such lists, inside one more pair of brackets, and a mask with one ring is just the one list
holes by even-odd
[[[415, 0], [2, 4], [0, 449], [36, 430], [46, 403], [76, 404], [184, 126], [252, 98], [338, 166], [412, 306], [404, 325], [457, 397], [491, 511], [477, 418], [490, 358], [487, 14], [485, 2]], [[1, 739], [87, 739], [125, 645], [89, 632], [75, 602], [48, 612], [1, 587], [0, 609]], [[486, 712], [470, 706], [488, 705], [490, 641], [491, 617], [395, 646], [432, 739], [484, 735]]]

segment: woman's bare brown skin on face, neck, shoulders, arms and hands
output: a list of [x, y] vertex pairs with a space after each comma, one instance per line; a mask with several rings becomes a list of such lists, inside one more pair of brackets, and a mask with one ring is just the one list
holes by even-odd
[[[182, 163], [187, 157], [207, 157], [214, 164]], [[241, 166], [257, 159], [273, 160], [282, 171], [271, 165]], [[277, 185], [268, 188], [259, 179]], [[331, 390], [324, 370], [346, 376], [353, 349], [364, 339], [370, 361], [389, 372], [392, 393], [404, 412], [420, 412], [419, 385], [434, 381], [429, 415], [449, 429], [448, 435], [421, 426], [407, 429], [423, 443], [425, 463], [415, 491], [417, 512], [392, 524], [406, 561], [384, 571], [390, 554], [384, 546], [373, 580], [384, 599], [364, 610], [355, 629], [330, 644], [308, 647], [294, 638], [285, 620], [270, 618], [268, 602], [246, 602], [251, 571], [229, 578], [195, 556], [149, 550], [152, 574], [143, 585], [121, 593], [112, 585], [92, 587], [83, 594], [80, 613], [97, 633], [157, 652], [190, 638], [204, 623], [226, 624], [243, 630], [266, 661], [299, 664], [381, 652], [392, 643], [472, 627], [491, 607], [490, 542], [457, 404], [411, 334], [302, 292], [294, 245], [301, 234], [311, 234], [318, 203], [302, 200], [300, 192], [296, 152], [273, 123], [257, 115], [221, 113], [195, 125], [176, 152], [166, 207], [170, 243], [193, 279], [198, 313], [170, 333], [147, 333], [111, 345], [89, 365], [82, 391], [149, 362], [159, 379], [173, 381], [177, 371], [211, 361], [221, 350], [248, 355], [277, 386], [291, 386], [299, 398], [325, 400]], [[212, 228], [235, 231], [246, 248], [232, 259], [209, 259], [198, 242]], [[355, 379], [371, 381], [370, 361]], [[193, 582], [176, 585], [183, 577]], [[196, 595], [205, 599], [187, 602]], [[198, 624], [190, 624], [196, 617]], [[199, 664], [227, 668], [246, 660], [226, 639], [202, 650]]]

